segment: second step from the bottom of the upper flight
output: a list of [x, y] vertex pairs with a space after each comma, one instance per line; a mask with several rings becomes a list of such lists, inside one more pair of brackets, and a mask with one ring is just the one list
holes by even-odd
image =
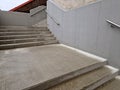
[[8, 39], [0, 40], [0, 45], [12, 44], [12, 43], [23, 43], [23, 42], [36, 42], [36, 41], [46, 41], [46, 40], [56, 40], [55, 37], [44, 37], [44, 38], [23, 38], [23, 39]]

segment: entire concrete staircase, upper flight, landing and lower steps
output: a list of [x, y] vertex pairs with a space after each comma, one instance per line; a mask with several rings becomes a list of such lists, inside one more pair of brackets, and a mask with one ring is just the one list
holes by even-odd
[[[0, 52], [0, 90], [119, 90], [119, 70], [106, 59], [57, 43], [46, 27], [1, 26], [0, 50], [13, 51]], [[41, 45], [26, 48], [32, 53], [14, 50]]]

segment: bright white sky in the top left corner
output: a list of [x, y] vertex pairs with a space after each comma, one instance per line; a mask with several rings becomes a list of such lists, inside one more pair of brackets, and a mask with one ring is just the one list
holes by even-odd
[[28, 0], [1, 0], [0, 1], [0, 9], [4, 11], [8, 11]]

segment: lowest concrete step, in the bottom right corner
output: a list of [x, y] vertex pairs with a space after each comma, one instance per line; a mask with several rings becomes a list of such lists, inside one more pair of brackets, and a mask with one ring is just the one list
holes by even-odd
[[120, 90], [120, 76], [115, 77], [96, 90]]

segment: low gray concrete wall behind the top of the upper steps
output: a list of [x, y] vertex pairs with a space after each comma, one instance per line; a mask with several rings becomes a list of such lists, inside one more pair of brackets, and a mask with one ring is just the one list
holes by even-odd
[[31, 13], [0, 11], [0, 25], [31, 26], [46, 18], [45, 9], [33, 9]]

